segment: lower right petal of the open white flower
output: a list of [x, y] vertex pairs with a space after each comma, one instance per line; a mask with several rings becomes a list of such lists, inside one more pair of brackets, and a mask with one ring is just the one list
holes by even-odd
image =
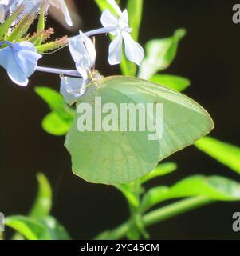
[[123, 31], [122, 36], [124, 38], [125, 43], [125, 54], [129, 61], [136, 63], [136, 65], [140, 65], [140, 63], [144, 59], [144, 49], [140, 46], [139, 43], [135, 42], [132, 39], [132, 36]]

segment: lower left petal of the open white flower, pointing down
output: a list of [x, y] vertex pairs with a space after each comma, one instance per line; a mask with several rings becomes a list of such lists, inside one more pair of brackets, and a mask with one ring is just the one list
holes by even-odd
[[119, 64], [122, 60], [123, 38], [120, 34], [110, 43], [108, 62], [110, 65]]

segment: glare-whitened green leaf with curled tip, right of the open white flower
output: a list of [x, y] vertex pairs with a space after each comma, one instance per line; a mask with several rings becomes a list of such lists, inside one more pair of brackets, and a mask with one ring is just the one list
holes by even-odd
[[176, 30], [171, 38], [154, 39], [146, 45], [146, 57], [140, 65], [139, 78], [150, 79], [160, 70], [167, 69], [174, 60], [180, 39], [186, 30]]

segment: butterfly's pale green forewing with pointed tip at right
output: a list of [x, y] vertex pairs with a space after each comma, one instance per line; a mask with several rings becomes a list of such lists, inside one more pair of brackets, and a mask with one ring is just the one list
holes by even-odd
[[159, 160], [190, 146], [210, 133], [214, 122], [199, 103], [178, 91], [140, 78], [104, 78], [104, 86], [131, 95], [133, 102], [163, 104], [163, 137], [159, 140]]

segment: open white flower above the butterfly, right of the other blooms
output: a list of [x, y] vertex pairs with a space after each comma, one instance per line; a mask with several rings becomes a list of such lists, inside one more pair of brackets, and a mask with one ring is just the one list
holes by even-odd
[[108, 0], [108, 2], [119, 15], [119, 18], [116, 18], [116, 16], [107, 9], [104, 10], [101, 16], [101, 23], [105, 28], [116, 27], [116, 29], [110, 32], [112, 35], [116, 36], [116, 38], [109, 46], [108, 62], [111, 65], [119, 64], [121, 62], [122, 45], [124, 41], [126, 57], [131, 62], [135, 62], [137, 65], [140, 65], [144, 59], [144, 49], [140, 44], [135, 42], [130, 35], [132, 29], [128, 25], [128, 10], [124, 10], [124, 12], [122, 12], [114, 0]]

